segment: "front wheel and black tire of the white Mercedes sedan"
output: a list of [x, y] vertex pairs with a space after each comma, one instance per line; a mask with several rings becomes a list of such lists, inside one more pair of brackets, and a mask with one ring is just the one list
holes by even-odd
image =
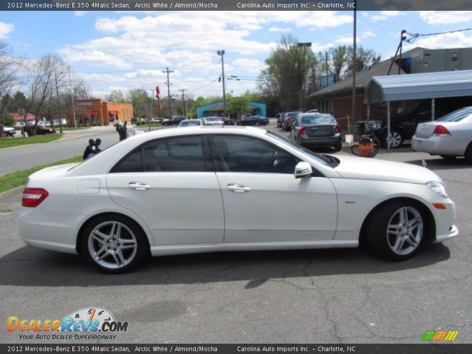
[[428, 223], [423, 209], [405, 200], [383, 205], [382, 212], [374, 212], [365, 227], [370, 248], [377, 255], [395, 261], [413, 257], [427, 233]]

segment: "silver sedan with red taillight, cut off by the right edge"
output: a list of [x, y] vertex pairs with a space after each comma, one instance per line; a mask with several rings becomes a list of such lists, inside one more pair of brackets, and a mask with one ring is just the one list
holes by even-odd
[[472, 107], [418, 124], [412, 138], [412, 148], [443, 158], [464, 156], [472, 163]]

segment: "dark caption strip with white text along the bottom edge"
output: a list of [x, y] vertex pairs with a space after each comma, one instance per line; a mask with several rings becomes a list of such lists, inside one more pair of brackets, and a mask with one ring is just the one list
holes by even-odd
[[469, 354], [471, 344], [0, 344], [0, 353]]

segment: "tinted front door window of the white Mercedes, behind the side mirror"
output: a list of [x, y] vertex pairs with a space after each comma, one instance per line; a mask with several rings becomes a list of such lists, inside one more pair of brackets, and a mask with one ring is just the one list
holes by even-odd
[[214, 137], [224, 172], [293, 174], [298, 159], [257, 138], [237, 135]]

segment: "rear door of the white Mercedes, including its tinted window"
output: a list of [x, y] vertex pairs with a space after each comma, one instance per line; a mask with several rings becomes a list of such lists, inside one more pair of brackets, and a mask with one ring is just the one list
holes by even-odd
[[223, 202], [206, 136], [147, 142], [118, 162], [107, 185], [116, 204], [148, 224], [156, 244], [223, 242]]

